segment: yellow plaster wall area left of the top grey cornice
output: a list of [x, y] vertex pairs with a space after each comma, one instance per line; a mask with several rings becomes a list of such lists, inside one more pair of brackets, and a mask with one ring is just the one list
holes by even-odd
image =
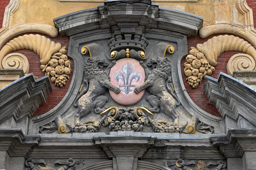
[[69, 3], [58, 0], [20, 0], [13, 14], [12, 26], [42, 23], [54, 26], [53, 19], [80, 10], [96, 8], [101, 3]]

